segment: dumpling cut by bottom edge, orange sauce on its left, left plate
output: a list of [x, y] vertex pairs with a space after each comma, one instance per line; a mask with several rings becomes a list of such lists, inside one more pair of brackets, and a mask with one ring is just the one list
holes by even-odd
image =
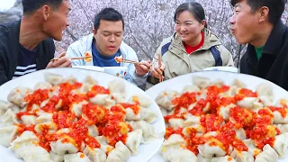
[[106, 154], [105, 152], [100, 148], [90, 148], [89, 146], [86, 146], [86, 148], [83, 150], [83, 153], [94, 162], [105, 162], [106, 161]]

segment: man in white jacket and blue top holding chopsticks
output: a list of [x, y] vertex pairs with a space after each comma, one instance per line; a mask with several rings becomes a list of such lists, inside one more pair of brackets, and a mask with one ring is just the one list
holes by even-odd
[[[148, 61], [138, 61], [136, 52], [122, 41], [123, 32], [122, 15], [113, 8], [103, 8], [94, 17], [93, 33], [72, 43], [67, 49], [67, 56], [85, 57], [85, 53], [92, 53], [92, 61], [74, 59], [73, 66], [128, 67], [124, 78], [144, 89], [150, 64]], [[118, 62], [115, 58], [122, 58], [126, 62]]]

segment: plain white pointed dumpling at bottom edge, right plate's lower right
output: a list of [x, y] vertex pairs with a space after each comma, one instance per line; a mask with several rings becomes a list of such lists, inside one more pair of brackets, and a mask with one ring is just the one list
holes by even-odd
[[263, 152], [257, 155], [255, 162], [275, 162], [278, 159], [278, 155], [270, 145], [266, 145], [263, 148]]

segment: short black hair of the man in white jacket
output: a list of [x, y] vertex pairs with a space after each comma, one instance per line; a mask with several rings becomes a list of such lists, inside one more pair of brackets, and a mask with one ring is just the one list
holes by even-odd
[[120, 14], [118, 11], [116, 11], [113, 8], [103, 8], [103, 10], [101, 10], [100, 13], [95, 15], [94, 30], [99, 29], [101, 20], [111, 21], [111, 22], [121, 21], [122, 25], [123, 25], [123, 30], [124, 30], [123, 16], [122, 16], [122, 14]]

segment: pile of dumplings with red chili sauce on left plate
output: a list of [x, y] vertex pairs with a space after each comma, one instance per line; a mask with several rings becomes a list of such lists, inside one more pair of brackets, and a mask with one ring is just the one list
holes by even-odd
[[[74, 88], [65, 92], [67, 98], [77, 94], [84, 96], [85, 99], [78, 101], [79, 98], [76, 98], [78, 101], [76, 103], [65, 103], [64, 99], [60, 99], [57, 104], [49, 107], [49, 103], [53, 102], [60, 93], [63, 93], [64, 90], [61, 87], [64, 85], [71, 85], [71, 87], [75, 85]], [[94, 87], [98, 87], [106, 93], [98, 92], [98, 94], [91, 95]], [[48, 92], [48, 96], [42, 99], [43, 95], [37, 99], [40, 102], [30, 103], [31, 100], [28, 100], [27, 96], [35, 98], [35, 92]], [[26, 162], [126, 161], [130, 156], [139, 154], [140, 144], [147, 144], [160, 138], [152, 125], [157, 120], [158, 114], [150, 110], [151, 100], [141, 94], [127, 96], [125, 83], [121, 79], [111, 81], [105, 88], [98, 85], [98, 82], [91, 76], [78, 82], [73, 76], [63, 78], [57, 74], [48, 73], [45, 76], [45, 82], [35, 85], [34, 89], [28, 87], [14, 88], [7, 96], [7, 101], [0, 101], [0, 123], [2, 124], [0, 127], [0, 144], [12, 149], [16, 157], [23, 158]], [[64, 104], [68, 107], [63, 107]], [[96, 121], [90, 119], [91, 115], [88, 116], [84, 112], [85, 105], [100, 111], [99, 115], [91, 113]], [[139, 110], [135, 111], [135, 108], [130, 106]], [[115, 108], [121, 109], [121, 112], [113, 112], [112, 109]], [[67, 114], [63, 114], [63, 111], [66, 111]], [[62, 116], [67, 115], [64, 120], [65, 123], [62, 125], [59, 124], [60, 112], [62, 112]], [[58, 118], [55, 118], [57, 115]], [[118, 121], [106, 119], [109, 115], [120, 117]], [[107, 123], [103, 122], [104, 120]], [[80, 121], [85, 121], [88, 124], [84, 124], [83, 127], [77, 126], [75, 123], [80, 123]], [[121, 134], [116, 134], [117, 137], [103, 135], [103, 129], [108, 122], [119, 126], [121, 129], [119, 133]], [[100, 128], [99, 123], [102, 124], [102, 128]], [[86, 129], [85, 136], [92, 139], [94, 143], [98, 143], [99, 146], [95, 145], [93, 148], [85, 141], [77, 145], [76, 141], [79, 140], [69, 137], [69, 133], [71, 134], [73, 129]], [[48, 137], [51, 141], [46, 146], [47, 148], [43, 148], [40, 142], [43, 138], [48, 139]], [[117, 139], [121, 137], [125, 137], [125, 139]], [[111, 142], [112, 139], [116, 141]]]

